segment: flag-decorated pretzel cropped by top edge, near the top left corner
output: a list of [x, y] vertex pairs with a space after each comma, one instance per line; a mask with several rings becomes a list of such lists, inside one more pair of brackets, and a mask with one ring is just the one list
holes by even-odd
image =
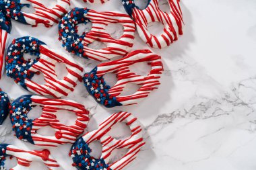
[[53, 26], [53, 24], [59, 23], [59, 19], [67, 13], [70, 2], [69, 0], [58, 0], [57, 4], [53, 8], [48, 8], [44, 6], [37, 0], [26, 0], [32, 3], [35, 9], [34, 13], [26, 13], [22, 11], [22, 7], [25, 5], [29, 7], [29, 4], [23, 4], [20, 0], [11, 0], [11, 5], [15, 5], [14, 9], [9, 9], [11, 18], [15, 21], [22, 22], [23, 24], [30, 24], [32, 26], [37, 26], [38, 24], [43, 24], [46, 27]]

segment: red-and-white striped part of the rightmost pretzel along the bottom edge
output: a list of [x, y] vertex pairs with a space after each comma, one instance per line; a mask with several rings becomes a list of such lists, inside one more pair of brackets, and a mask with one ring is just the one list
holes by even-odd
[[[125, 122], [131, 129], [131, 136], [120, 140], [117, 140], [112, 136], [108, 136], [106, 133], [109, 132], [117, 122]], [[141, 146], [145, 144], [142, 138], [141, 126], [139, 125], [137, 118], [127, 112], [113, 114], [104, 120], [97, 130], [85, 134], [83, 139], [87, 144], [100, 140], [102, 144], [101, 158], [104, 159], [106, 163], [110, 161], [111, 153], [115, 149], [128, 149], [128, 152], [119, 161], [110, 163], [110, 169], [113, 170], [121, 170], [131, 163], [131, 161], [136, 159]]]

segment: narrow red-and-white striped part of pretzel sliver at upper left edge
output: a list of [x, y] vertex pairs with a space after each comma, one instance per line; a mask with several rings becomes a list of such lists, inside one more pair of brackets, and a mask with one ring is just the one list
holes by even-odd
[[9, 33], [5, 30], [0, 29], [0, 79], [5, 70], [5, 46], [9, 40]]

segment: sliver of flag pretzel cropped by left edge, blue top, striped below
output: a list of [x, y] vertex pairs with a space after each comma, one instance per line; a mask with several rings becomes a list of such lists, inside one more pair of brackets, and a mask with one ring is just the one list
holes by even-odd
[[11, 19], [7, 17], [5, 10], [0, 10], [0, 79], [5, 70], [5, 46], [8, 43], [10, 32]]

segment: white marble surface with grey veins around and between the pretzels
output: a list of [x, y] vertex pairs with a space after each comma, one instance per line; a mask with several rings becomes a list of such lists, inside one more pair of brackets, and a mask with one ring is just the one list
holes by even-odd
[[[72, 6], [124, 12], [119, 0], [102, 6], [80, 1], [73, 1]], [[182, 0], [181, 7], [184, 35], [169, 48], [153, 49], [162, 55], [164, 74], [160, 89], [148, 99], [138, 105], [106, 109], [88, 96], [82, 83], [67, 98], [90, 110], [89, 130], [117, 110], [139, 118], [146, 146], [127, 170], [255, 170], [256, 1]], [[34, 36], [63, 50], [57, 26], [31, 28], [13, 22], [11, 34], [11, 38]], [[148, 46], [136, 38], [134, 48]], [[86, 71], [97, 63], [75, 58]], [[28, 94], [6, 76], [0, 85], [11, 99]], [[126, 127], [119, 126], [115, 134], [125, 134], [127, 129], [122, 128]], [[40, 149], [15, 138], [8, 119], [0, 133], [1, 142]], [[70, 147], [50, 148], [63, 169], [74, 169], [67, 156]], [[31, 169], [45, 167], [33, 163]]]

